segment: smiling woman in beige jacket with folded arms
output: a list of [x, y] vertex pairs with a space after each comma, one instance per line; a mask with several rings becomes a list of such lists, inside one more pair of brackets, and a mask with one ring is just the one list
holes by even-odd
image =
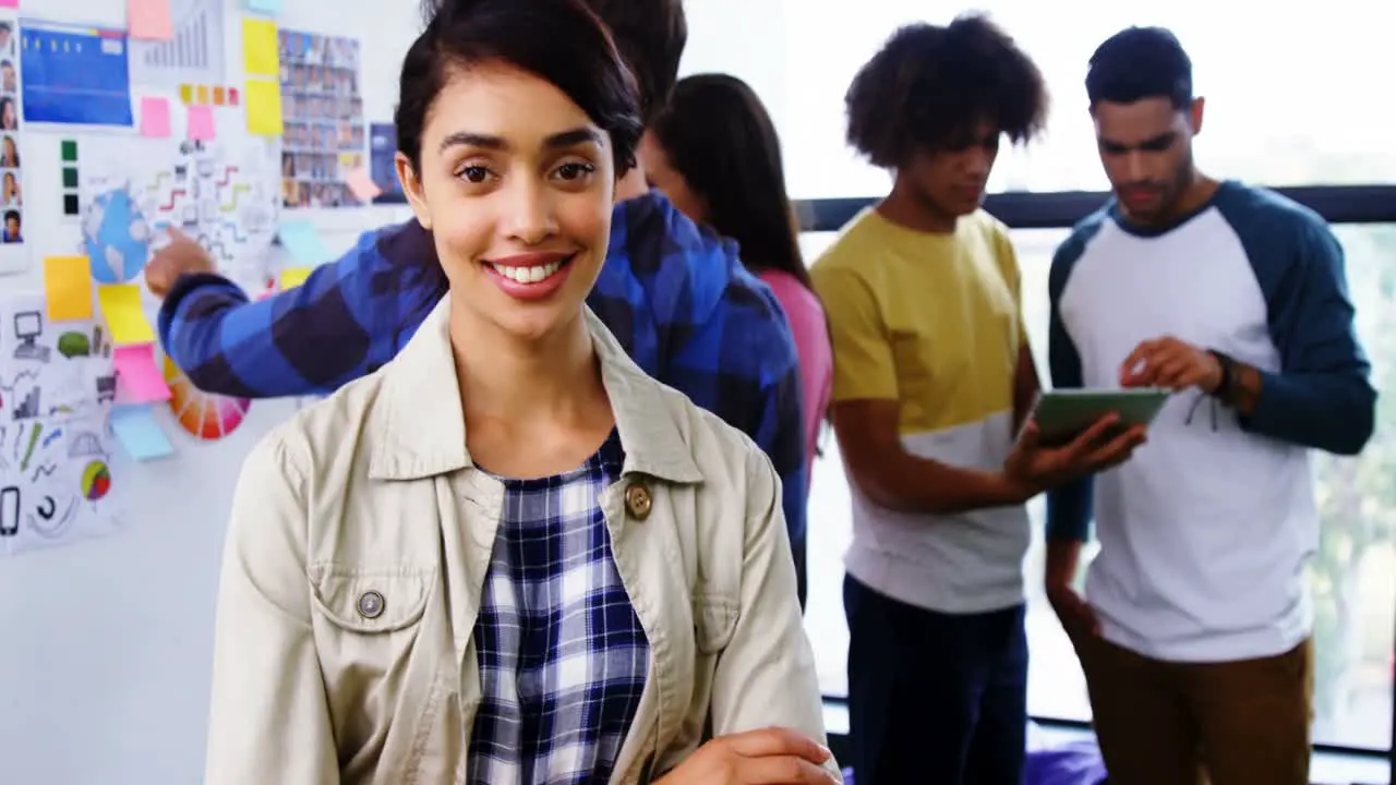
[[450, 292], [247, 458], [205, 782], [836, 782], [775, 471], [584, 305], [641, 130], [609, 35], [444, 0], [401, 91]]

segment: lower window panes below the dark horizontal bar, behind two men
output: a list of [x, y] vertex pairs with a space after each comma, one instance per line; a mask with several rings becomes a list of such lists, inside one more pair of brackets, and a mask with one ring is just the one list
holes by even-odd
[[[1390, 744], [1392, 644], [1396, 637], [1396, 223], [1337, 226], [1357, 303], [1358, 332], [1372, 359], [1379, 392], [1376, 436], [1357, 458], [1316, 461], [1322, 545], [1309, 566], [1315, 603], [1315, 726], [1321, 744], [1385, 750]], [[1046, 373], [1047, 271], [1064, 229], [1015, 230], [1023, 272], [1023, 313]], [[832, 232], [803, 237], [817, 258]], [[805, 629], [815, 645], [819, 683], [847, 694], [847, 626], [843, 619], [843, 552], [852, 536], [847, 480], [833, 439], [815, 464], [810, 496], [810, 601]], [[1089, 719], [1075, 652], [1041, 595], [1043, 503], [1029, 506], [1033, 545], [1025, 560], [1033, 717]], [[1087, 557], [1092, 552], [1087, 550]]]

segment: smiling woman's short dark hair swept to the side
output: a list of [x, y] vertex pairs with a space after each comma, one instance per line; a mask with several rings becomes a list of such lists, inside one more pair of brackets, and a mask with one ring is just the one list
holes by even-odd
[[616, 173], [635, 165], [644, 131], [635, 80], [610, 34], [579, 0], [445, 0], [402, 60], [398, 149], [422, 166], [427, 113], [452, 70], [508, 63], [563, 91], [610, 135]]

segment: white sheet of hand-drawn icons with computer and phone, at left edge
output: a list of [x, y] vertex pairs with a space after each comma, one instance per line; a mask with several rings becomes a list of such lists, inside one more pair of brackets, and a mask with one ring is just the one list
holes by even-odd
[[113, 531], [112, 344], [50, 325], [42, 295], [0, 298], [0, 555]]

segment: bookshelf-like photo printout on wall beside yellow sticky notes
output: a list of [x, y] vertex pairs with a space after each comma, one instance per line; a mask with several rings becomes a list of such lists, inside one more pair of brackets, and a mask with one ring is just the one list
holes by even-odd
[[359, 207], [346, 180], [364, 165], [359, 42], [279, 31], [282, 205]]

